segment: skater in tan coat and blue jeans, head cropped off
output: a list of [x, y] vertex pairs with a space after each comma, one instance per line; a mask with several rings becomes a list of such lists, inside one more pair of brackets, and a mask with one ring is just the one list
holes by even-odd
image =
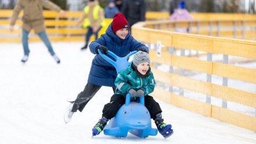
[[13, 9], [12, 17], [10, 18], [10, 31], [13, 31], [15, 22], [19, 13], [23, 10], [22, 17], [22, 44], [24, 56], [22, 62], [26, 63], [29, 59], [29, 33], [33, 29], [35, 34], [37, 34], [44, 44], [47, 46], [49, 53], [54, 57], [57, 63], [61, 63], [61, 60], [56, 56], [54, 49], [52, 48], [51, 42], [47, 37], [44, 25], [44, 16], [42, 15], [43, 8], [55, 10], [59, 12], [61, 16], [64, 16], [66, 12], [59, 8], [59, 6], [47, 0], [37, 0], [37, 1], [27, 1], [19, 0]]

